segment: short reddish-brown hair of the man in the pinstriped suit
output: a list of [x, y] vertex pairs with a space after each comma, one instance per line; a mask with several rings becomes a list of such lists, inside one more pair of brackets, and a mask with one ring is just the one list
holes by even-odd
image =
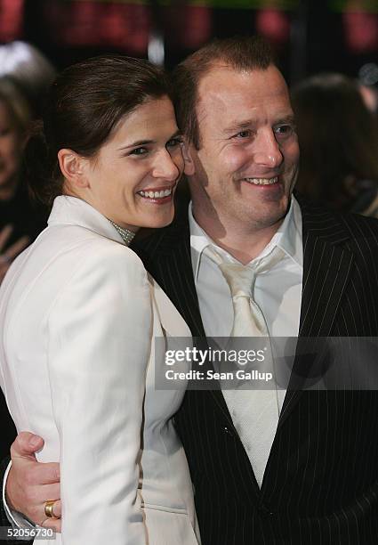
[[270, 45], [262, 37], [231, 37], [214, 39], [174, 69], [178, 125], [197, 149], [200, 146], [196, 111], [198, 85], [201, 78], [220, 63], [239, 71], [263, 70], [275, 64], [275, 58]]

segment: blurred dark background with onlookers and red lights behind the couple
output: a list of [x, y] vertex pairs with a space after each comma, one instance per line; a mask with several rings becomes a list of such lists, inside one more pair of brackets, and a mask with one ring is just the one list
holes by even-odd
[[298, 190], [378, 217], [378, 0], [0, 0], [0, 282], [46, 221], [21, 159], [55, 74], [115, 52], [172, 69], [212, 37], [245, 34], [269, 40], [290, 86]]

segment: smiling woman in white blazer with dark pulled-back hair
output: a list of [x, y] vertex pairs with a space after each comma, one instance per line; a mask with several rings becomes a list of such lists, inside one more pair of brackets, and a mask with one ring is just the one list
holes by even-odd
[[199, 541], [171, 420], [182, 390], [154, 388], [169, 337], [190, 333], [127, 248], [172, 221], [181, 148], [164, 73], [117, 56], [66, 69], [28, 142], [31, 188], [54, 200], [2, 286], [0, 361], [16, 426], [44, 436], [38, 460], [61, 463], [53, 543]]

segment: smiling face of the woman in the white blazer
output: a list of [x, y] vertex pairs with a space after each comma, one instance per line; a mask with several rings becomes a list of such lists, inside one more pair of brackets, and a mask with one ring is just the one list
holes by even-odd
[[126, 228], [173, 220], [173, 194], [184, 161], [172, 102], [151, 99], [122, 119], [89, 161], [85, 200]]

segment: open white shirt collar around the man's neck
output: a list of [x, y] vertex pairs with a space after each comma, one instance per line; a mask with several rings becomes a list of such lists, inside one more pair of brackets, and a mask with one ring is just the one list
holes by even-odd
[[[197, 224], [193, 216], [192, 203], [189, 202], [189, 230], [190, 230], [190, 252], [193, 265], [194, 279], [197, 281], [198, 271], [201, 264], [201, 257], [204, 249], [213, 244], [230, 261], [235, 261], [226, 250], [217, 246], [206, 232]], [[289, 256], [295, 264], [303, 267], [303, 246], [302, 246], [302, 212], [298, 201], [292, 195], [290, 207], [287, 211], [285, 220], [279, 226], [277, 232], [273, 235], [267, 246], [263, 248], [261, 254], [255, 259], [266, 256], [277, 246]]]

